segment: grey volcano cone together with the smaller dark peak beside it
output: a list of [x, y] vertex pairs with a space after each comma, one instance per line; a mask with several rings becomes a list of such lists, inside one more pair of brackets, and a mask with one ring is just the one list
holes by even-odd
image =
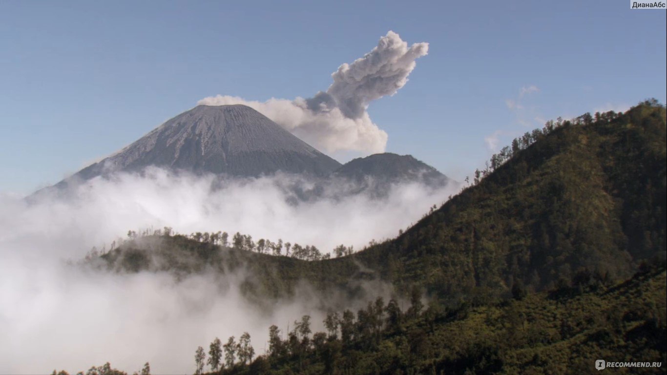
[[440, 187], [449, 181], [434, 167], [410, 155], [381, 153], [341, 165], [250, 107], [199, 105], [55, 186], [66, 187], [118, 171], [141, 171], [151, 165], [233, 177], [281, 171], [317, 185], [345, 184], [337, 195], [370, 191], [382, 196], [393, 183], [418, 181]]

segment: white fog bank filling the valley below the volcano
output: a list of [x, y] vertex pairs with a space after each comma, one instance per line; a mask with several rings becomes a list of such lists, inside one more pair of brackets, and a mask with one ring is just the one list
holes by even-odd
[[284, 331], [302, 314], [322, 330], [307, 286], [294, 300], [263, 311], [236, 285], [242, 275], [115, 274], [71, 266], [92, 246], [107, 248], [127, 230], [171, 226], [177, 232], [241, 232], [315, 245], [361, 248], [396, 236], [432, 204], [452, 194], [397, 185], [386, 200], [364, 195], [294, 204], [289, 176], [225, 181], [162, 169], [97, 177], [76, 187], [75, 200], [0, 194], [0, 373], [69, 372], [111, 362], [133, 372], [144, 362], [157, 374], [193, 372], [197, 346], [219, 336], [251, 334], [263, 353], [267, 328]]

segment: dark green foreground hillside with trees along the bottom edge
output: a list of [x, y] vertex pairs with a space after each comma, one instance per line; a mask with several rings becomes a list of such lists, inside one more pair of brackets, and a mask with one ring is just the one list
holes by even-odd
[[[356, 315], [329, 313], [328, 332], [311, 332], [309, 316], [295, 321], [291, 332], [267, 328], [267, 353], [259, 356], [249, 335], [241, 332], [239, 342], [202, 343], [193, 370], [222, 375], [578, 375], [596, 372], [595, 361], [602, 359], [662, 364], [611, 369], [618, 374], [665, 374], [666, 283], [663, 264], [608, 288], [588, 280], [552, 292], [515, 294], [487, 306], [434, 303], [424, 310], [417, 298], [401, 311], [395, 300], [384, 304], [378, 299]], [[108, 363], [86, 374], [127, 375]], [[149, 364], [141, 374], [149, 374]]]

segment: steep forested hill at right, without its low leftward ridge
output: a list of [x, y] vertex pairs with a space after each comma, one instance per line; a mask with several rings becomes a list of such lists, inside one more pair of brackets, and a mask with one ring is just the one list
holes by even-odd
[[482, 301], [515, 285], [608, 281], [642, 260], [664, 262], [665, 108], [647, 102], [577, 122], [516, 144], [478, 184], [358, 258], [390, 280]]

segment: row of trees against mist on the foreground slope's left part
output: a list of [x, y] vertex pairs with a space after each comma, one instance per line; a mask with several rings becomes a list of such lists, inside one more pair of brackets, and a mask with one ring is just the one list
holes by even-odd
[[[217, 374], [262, 374], [281, 366], [297, 364], [298, 371], [304, 370], [306, 358], [325, 364], [325, 374], [333, 373], [334, 367], [350, 366], [344, 360], [352, 351], [376, 350], [386, 334], [401, 334], [408, 320], [434, 316], [436, 307], [425, 310], [422, 303], [422, 291], [413, 288], [410, 294], [410, 307], [406, 312], [400, 308], [398, 300], [392, 298], [387, 304], [378, 297], [368, 302], [366, 308], [356, 312], [329, 312], [323, 320], [326, 332], [311, 329], [311, 316], [301, 316], [293, 322], [287, 337], [274, 325], [269, 327], [268, 348], [266, 352], [253, 360], [255, 350], [250, 344], [250, 335], [244, 332], [239, 341], [231, 336], [226, 344], [215, 338], [209, 344], [208, 357], [202, 346], [195, 350], [195, 374], [205, 374], [208, 365], [211, 372]], [[433, 319], [431, 319], [433, 320]], [[424, 337], [409, 339], [411, 346], [423, 346]]]

